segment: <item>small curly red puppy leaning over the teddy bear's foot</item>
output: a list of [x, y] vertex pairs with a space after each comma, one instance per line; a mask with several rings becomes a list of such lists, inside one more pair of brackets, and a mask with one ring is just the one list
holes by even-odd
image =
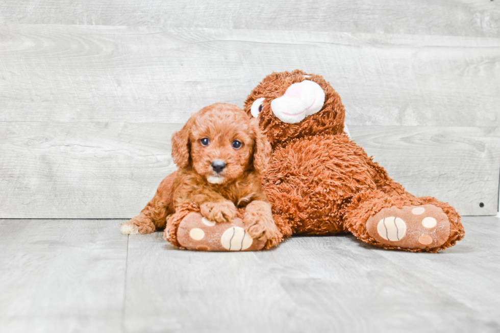
[[277, 228], [262, 189], [271, 146], [256, 119], [235, 105], [217, 103], [193, 114], [172, 136], [178, 170], [167, 176], [141, 213], [121, 225], [122, 234], [148, 234], [165, 228], [166, 217], [181, 203], [194, 202], [207, 219], [236, 217], [252, 238], [270, 240]]

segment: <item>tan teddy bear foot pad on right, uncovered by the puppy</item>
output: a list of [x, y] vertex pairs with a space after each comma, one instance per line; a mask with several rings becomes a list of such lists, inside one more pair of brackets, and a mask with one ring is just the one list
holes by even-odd
[[448, 216], [433, 204], [384, 208], [366, 222], [368, 235], [377, 242], [408, 249], [443, 245], [449, 226]]

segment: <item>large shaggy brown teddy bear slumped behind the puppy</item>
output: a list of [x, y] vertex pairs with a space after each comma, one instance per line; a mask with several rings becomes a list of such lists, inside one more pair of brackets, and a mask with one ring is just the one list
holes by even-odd
[[[464, 237], [453, 207], [405, 191], [346, 135], [340, 96], [321, 75], [273, 72], [244, 110], [272, 147], [262, 185], [278, 229], [247, 249], [271, 248], [292, 235], [351, 233], [381, 248], [437, 252]], [[197, 210], [187, 205], [171, 216], [165, 236], [172, 244], [189, 239], [187, 230], [200, 224]], [[214, 233], [218, 243], [230, 227]]]

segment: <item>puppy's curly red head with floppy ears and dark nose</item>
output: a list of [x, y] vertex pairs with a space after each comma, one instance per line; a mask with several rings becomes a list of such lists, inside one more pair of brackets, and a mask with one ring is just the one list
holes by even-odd
[[[182, 152], [187, 155], [181, 156]], [[191, 164], [207, 182], [225, 184], [249, 168], [264, 168], [270, 145], [260, 134], [257, 121], [237, 106], [219, 103], [194, 114], [174, 134], [172, 156], [179, 167]]]

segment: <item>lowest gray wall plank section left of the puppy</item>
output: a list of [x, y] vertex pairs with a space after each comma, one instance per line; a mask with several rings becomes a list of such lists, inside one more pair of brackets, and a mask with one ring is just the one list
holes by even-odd
[[182, 124], [0, 122], [2, 218], [131, 218], [176, 169]]

